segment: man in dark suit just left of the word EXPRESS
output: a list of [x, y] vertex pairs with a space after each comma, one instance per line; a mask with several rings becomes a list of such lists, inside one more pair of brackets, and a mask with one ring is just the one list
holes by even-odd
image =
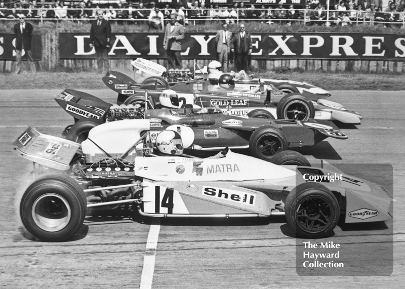
[[248, 55], [252, 53], [252, 39], [245, 31], [245, 24], [239, 25], [240, 32], [231, 39], [231, 51], [235, 53], [236, 71], [249, 70]]

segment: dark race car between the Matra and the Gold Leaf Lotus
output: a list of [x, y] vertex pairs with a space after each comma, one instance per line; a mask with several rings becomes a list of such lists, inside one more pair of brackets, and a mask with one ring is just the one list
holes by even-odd
[[[162, 102], [170, 102], [171, 96], [162, 94]], [[145, 102], [145, 96], [143, 99]], [[203, 150], [249, 148], [253, 156], [268, 161], [280, 151], [310, 147], [328, 137], [347, 139], [342, 131], [327, 120], [275, 120], [228, 115], [222, 113], [218, 106], [204, 106], [201, 103], [201, 106], [194, 107], [185, 105], [184, 109], [145, 110], [139, 104], [113, 106], [95, 96], [69, 89], [63, 91], [56, 101], [79, 120], [66, 135], [67, 139], [77, 142], [85, 140], [88, 132], [104, 121], [137, 118], [150, 119], [152, 141], [158, 132], [168, 127], [190, 127], [195, 136], [194, 144]]]

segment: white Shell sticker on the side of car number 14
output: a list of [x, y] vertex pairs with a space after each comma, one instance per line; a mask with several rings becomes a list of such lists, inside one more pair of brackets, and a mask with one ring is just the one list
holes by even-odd
[[216, 199], [224, 199], [239, 204], [246, 204], [252, 207], [255, 206], [256, 194], [241, 192], [235, 190], [228, 190], [217, 187], [203, 186], [203, 195], [214, 197]]

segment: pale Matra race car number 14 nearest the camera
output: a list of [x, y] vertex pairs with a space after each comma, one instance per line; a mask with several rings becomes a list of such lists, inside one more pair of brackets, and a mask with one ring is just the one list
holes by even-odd
[[[92, 210], [130, 210], [141, 217], [267, 218], [285, 215], [297, 235], [327, 236], [346, 223], [385, 221], [384, 187], [330, 169], [277, 166], [225, 150], [183, 154], [182, 137], [160, 132], [151, 146], [149, 119], [105, 123], [81, 145], [28, 128], [14, 152], [47, 174], [30, 183], [20, 202], [25, 228], [43, 241], [64, 241]], [[124, 153], [122, 153], [124, 151]], [[304, 176], [322, 176], [321, 183]], [[332, 181], [331, 177], [340, 176]], [[367, 211], [363, 217], [362, 212]]]

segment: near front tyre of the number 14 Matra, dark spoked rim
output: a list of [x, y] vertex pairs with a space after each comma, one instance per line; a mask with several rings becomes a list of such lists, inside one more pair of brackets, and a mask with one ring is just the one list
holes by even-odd
[[322, 238], [339, 221], [339, 202], [325, 186], [309, 182], [296, 186], [287, 196], [286, 218], [289, 225], [304, 238]]

